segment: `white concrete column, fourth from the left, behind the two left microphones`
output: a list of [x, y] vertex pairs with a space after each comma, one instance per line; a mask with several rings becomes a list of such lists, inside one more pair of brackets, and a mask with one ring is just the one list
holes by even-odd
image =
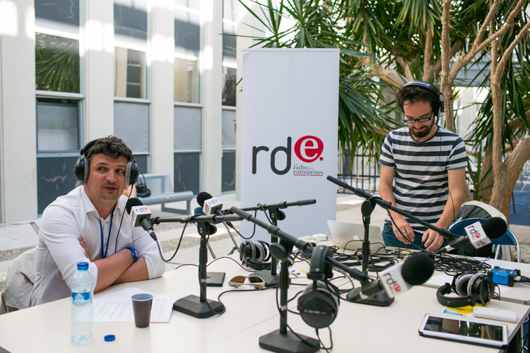
[[221, 90], [223, 66], [223, 1], [201, 1], [204, 46], [202, 54], [202, 185], [201, 190], [221, 193]]

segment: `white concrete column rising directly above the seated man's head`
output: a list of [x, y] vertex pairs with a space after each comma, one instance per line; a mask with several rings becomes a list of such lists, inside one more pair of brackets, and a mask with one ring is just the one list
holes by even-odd
[[81, 4], [83, 139], [87, 143], [114, 133], [114, 3], [90, 0]]

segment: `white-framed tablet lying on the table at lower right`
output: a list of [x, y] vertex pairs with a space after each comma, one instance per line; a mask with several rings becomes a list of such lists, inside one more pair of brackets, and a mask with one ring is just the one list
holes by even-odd
[[508, 328], [505, 324], [488, 323], [466, 316], [425, 315], [418, 330], [420, 335], [440, 340], [449, 340], [502, 348], [508, 345]]

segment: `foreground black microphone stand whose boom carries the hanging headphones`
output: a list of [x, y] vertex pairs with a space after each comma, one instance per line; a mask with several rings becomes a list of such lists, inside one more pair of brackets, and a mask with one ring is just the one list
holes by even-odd
[[[245, 220], [255, 223], [259, 227], [267, 229], [269, 234], [279, 237], [280, 243], [271, 244], [271, 254], [274, 258], [281, 261], [280, 270], [280, 282], [279, 289], [280, 293], [280, 329], [275, 330], [271, 333], [259, 337], [259, 347], [267, 349], [272, 352], [279, 353], [311, 353], [317, 352], [320, 349], [319, 340], [307, 337], [305, 335], [294, 334], [287, 330], [287, 305], [288, 305], [288, 288], [289, 288], [289, 265], [293, 259], [290, 258], [290, 253], [293, 250], [293, 246], [296, 246], [300, 251], [306, 251], [312, 253], [313, 246], [307, 242], [297, 239], [292, 235], [283, 232], [281, 229], [274, 225], [269, 225], [266, 222], [258, 220], [256, 217], [252, 217], [248, 213], [245, 213], [239, 208], [230, 208], [231, 213], [235, 213]], [[365, 273], [356, 270], [355, 268], [349, 268], [347, 265], [336, 261], [331, 256], [326, 256], [326, 262], [331, 263], [336, 268], [343, 270], [351, 277], [355, 278], [361, 283], [364, 289], [361, 292], [363, 297], [377, 294], [384, 291], [384, 288], [379, 285], [378, 281], [372, 280]]]

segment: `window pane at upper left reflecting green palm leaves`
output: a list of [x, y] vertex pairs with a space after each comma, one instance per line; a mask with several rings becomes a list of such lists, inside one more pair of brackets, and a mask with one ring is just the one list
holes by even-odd
[[53, 35], [35, 35], [35, 88], [79, 92], [79, 42]]

